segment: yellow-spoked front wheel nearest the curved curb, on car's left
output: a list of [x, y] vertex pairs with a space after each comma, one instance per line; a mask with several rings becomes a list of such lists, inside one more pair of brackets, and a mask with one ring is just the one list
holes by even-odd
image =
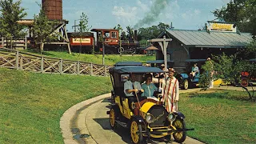
[[135, 144], [143, 141], [142, 125], [134, 120], [130, 124], [130, 138]]

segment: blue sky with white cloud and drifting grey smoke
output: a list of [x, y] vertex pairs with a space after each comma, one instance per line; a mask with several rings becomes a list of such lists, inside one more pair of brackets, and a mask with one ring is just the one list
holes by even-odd
[[[22, 0], [27, 19], [38, 14], [42, 0]], [[62, 18], [69, 21], [68, 32], [74, 31], [74, 21], [82, 12], [89, 18], [94, 29], [112, 29], [120, 24], [138, 29], [157, 26], [159, 22], [174, 29], [198, 30], [207, 21], [214, 20], [211, 11], [226, 6], [230, 0], [62, 0]]]

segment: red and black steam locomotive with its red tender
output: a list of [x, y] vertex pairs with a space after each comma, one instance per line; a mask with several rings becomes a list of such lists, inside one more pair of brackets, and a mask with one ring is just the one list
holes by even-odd
[[104, 49], [105, 54], [135, 54], [139, 47], [137, 30], [134, 30], [134, 37], [121, 38], [121, 40], [118, 30], [115, 29], [92, 29], [91, 31], [68, 33], [71, 50], [91, 54], [93, 50], [95, 53], [102, 53]]

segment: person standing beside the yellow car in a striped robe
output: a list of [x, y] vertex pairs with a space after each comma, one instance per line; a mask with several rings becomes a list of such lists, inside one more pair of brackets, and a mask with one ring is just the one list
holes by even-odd
[[168, 112], [178, 111], [179, 87], [178, 79], [174, 77], [174, 68], [169, 68], [169, 76], [163, 83], [162, 102]]

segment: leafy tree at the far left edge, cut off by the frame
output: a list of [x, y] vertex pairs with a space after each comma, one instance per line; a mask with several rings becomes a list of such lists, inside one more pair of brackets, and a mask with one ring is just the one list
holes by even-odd
[[[24, 37], [26, 33], [22, 31], [25, 27], [18, 24], [18, 20], [26, 17], [25, 9], [20, 6], [21, 0], [0, 1], [0, 34], [6, 38]], [[10, 45], [12, 48], [12, 44]]]

